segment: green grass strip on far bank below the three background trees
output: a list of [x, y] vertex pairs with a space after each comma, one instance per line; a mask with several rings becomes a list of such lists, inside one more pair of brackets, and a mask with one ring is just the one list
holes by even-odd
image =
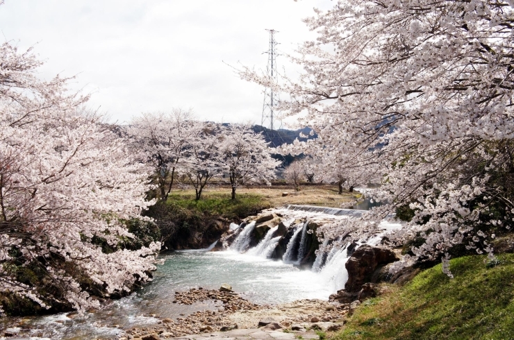
[[204, 193], [199, 201], [194, 200], [194, 194], [174, 194], [169, 196], [167, 204], [231, 220], [244, 219], [271, 207], [270, 202], [260, 195], [237, 194], [235, 200], [232, 200], [230, 193], [222, 192]]

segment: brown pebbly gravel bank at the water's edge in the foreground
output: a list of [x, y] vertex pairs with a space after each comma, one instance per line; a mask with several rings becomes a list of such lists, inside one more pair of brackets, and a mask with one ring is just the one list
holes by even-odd
[[[164, 318], [157, 325], [126, 330], [121, 339], [197, 339], [203, 337], [241, 339], [318, 339], [314, 331], [342, 327], [349, 305], [322, 300], [299, 300], [281, 305], [257, 305], [242, 298], [228, 285], [219, 290], [190, 289], [177, 292], [174, 303], [219, 300], [217, 311], [195, 312], [184, 318]], [[197, 334], [197, 335], [194, 335]]]

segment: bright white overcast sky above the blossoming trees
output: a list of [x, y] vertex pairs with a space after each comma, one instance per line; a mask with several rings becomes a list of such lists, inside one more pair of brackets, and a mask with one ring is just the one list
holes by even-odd
[[[331, 0], [6, 0], [3, 40], [34, 46], [42, 78], [74, 90], [119, 123], [140, 112], [193, 108], [201, 119], [260, 124], [262, 89], [226, 64], [265, 69], [269, 35], [292, 53], [315, 33], [301, 21]], [[226, 64], [225, 64], [225, 63]], [[278, 58], [289, 76], [299, 69]]]

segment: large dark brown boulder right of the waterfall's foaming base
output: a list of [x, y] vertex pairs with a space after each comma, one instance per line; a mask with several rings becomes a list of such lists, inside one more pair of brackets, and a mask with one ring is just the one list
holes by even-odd
[[374, 246], [360, 246], [346, 262], [348, 281], [345, 290], [358, 292], [363, 284], [372, 282], [376, 269], [391, 262], [398, 261], [397, 255], [390, 249]]

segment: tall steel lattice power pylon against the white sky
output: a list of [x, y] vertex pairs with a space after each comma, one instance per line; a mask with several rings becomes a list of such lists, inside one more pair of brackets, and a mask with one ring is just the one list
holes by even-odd
[[[279, 43], [275, 40], [275, 33], [277, 31], [267, 30], [270, 32], [270, 48], [267, 52], [267, 76], [274, 80], [275, 83], [278, 80], [278, 73], [276, 72], [276, 45]], [[278, 92], [274, 92], [271, 87], [266, 87], [264, 90], [264, 103], [263, 103], [263, 119], [261, 126], [270, 130], [273, 134], [273, 130], [276, 129], [274, 114], [277, 111], [276, 108], [280, 103], [280, 96]], [[282, 124], [278, 126], [277, 130], [282, 128]]]

